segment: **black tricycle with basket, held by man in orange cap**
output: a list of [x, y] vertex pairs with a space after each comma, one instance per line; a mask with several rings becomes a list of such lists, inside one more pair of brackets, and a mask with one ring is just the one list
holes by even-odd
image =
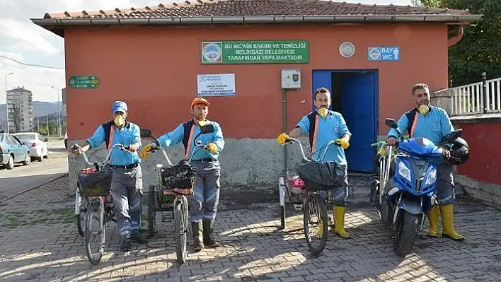
[[[188, 221], [188, 198], [193, 194], [195, 189], [196, 168], [193, 168], [190, 163], [193, 155], [201, 148], [205, 148], [201, 141], [196, 141], [200, 134], [208, 134], [214, 131], [212, 124], [204, 125], [201, 131], [193, 139], [195, 149], [188, 160], [180, 160], [178, 165], [174, 165], [168, 158], [166, 151], [160, 146], [160, 142], [151, 135], [151, 130], [141, 129], [141, 136], [148, 136], [154, 139], [157, 146], [152, 147], [150, 152], [161, 150], [163, 157], [166, 159], [168, 167], [163, 164], [156, 165], [156, 175], [159, 179], [158, 186], [150, 185], [148, 192], [148, 223], [149, 234], [154, 235], [155, 228], [155, 213], [156, 211], [172, 211], [174, 218], [174, 240], [175, 253], [178, 259], [178, 264], [184, 264], [187, 257], [186, 245], [187, 234], [190, 233]], [[161, 195], [161, 196], [160, 196]], [[168, 196], [174, 196], [173, 201]], [[156, 208], [156, 205], [159, 208]]]

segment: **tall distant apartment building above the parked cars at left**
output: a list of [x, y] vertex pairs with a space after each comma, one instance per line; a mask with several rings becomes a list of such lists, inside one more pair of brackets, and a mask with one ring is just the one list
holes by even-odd
[[10, 132], [33, 131], [33, 93], [23, 87], [7, 91], [8, 129]]

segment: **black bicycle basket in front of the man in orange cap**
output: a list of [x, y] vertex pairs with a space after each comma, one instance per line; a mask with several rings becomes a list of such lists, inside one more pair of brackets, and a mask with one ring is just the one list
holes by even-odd
[[188, 164], [179, 164], [171, 168], [163, 169], [162, 184], [166, 189], [173, 190], [177, 194], [191, 195], [195, 188], [195, 168]]

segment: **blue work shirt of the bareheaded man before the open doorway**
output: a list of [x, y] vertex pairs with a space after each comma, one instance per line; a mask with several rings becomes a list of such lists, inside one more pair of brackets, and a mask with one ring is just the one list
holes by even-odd
[[[326, 149], [325, 146], [330, 141], [340, 139], [344, 134], [352, 135], [346, 126], [345, 119], [339, 112], [334, 111], [328, 111], [326, 117], [321, 117], [317, 112], [311, 114], [316, 114], [316, 120], [318, 121], [318, 124], [315, 124], [316, 130], [310, 133], [313, 134], [313, 136], [310, 136], [313, 147], [311, 151], [316, 152], [312, 156], [313, 160], [322, 162], [335, 161], [338, 165], [347, 165], [345, 150], [335, 144], [329, 146], [326, 156], [321, 160], [323, 151]], [[304, 116], [297, 126], [301, 128], [301, 134], [309, 132], [310, 119], [308, 115]], [[316, 134], [314, 134], [315, 131]]]

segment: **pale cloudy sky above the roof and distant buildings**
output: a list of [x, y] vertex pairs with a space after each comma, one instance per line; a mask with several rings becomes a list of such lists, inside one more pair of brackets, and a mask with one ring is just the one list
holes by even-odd
[[[410, 0], [340, 0], [379, 5], [410, 5]], [[114, 8], [156, 6], [161, 0], [0, 0], [0, 56], [16, 59], [25, 66], [0, 57], [0, 104], [5, 103], [5, 88], [24, 86], [33, 92], [33, 100], [56, 102], [65, 87], [64, 39], [31, 22], [46, 12], [99, 11]], [[172, 1], [163, 1], [171, 3]], [[6, 74], [7, 76], [6, 83]], [[54, 88], [57, 88], [54, 89]]]

